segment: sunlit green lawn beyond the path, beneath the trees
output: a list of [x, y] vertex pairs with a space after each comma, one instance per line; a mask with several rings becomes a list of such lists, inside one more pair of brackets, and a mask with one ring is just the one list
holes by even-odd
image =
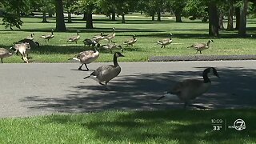
[[[81, 19], [81, 18], [80, 18]], [[111, 28], [116, 28], [116, 38], [114, 41], [122, 45], [126, 39], [130, 39], [133, 34], [137, 35], [138, 42], [134, 47], [124, 47], [125, 58], [122, 62], [145, 62], [151, 56], [166, 55], [191, 55], [195, 50], [186, 48], [195, 42], [207, 42], [214, 39], [209, 50], [202, 51], [202, 54], [256, 54], [255, 32], [256, 20], [248, 21], [247, 34], [253, 34], [253, 38], [238, 38], [237, 31], [220, 32], [219, 38], [208, 36], [208, 23], [199, 20], [190, 21], [184, 19], [182, 23], [174, 22], [172, 17], [162, 18], [162, 22], [152, 22], [150, 18], [143, 15], [133, 14], [126, 17], [126, 23], [122, 24], [120, 18], [112, 22], [105, 17], [94, 17], [94, 30], [86, 30], [85, 22], [75, 18], [73, 23], [66, 23], [67, 31], [54, 32], [55, 38], [50, 42], [39, 38], [42, 34], [50, 33], [55, 28], [54, 18], [48, 18], [48, 23], [42, 23], [42, 18], [22, 18], [24, 24], [21, 30], [6, 30], [0, 26], [0, 46], [9, 48], [13, 42], [26, 38], [31, 33], [35, 34], [35, 41], [40, 43], [40, 47], [32, 50], [30, 62], [69, 62], [67, 59], [73, 57], [83, 50], [91, 50], [90, 47], [83, 46], [82, 40], [92, 38], [100, 32], [111, 33]], [[81, 31], [81, 40], [78, 44], [68, 43], [66, 40], [76, 35], [76, 30]], [[173, 43], [166, 48], [160, 48], [156, 42], [162, 38], [168, 38], [173, 33]], [[106, 43], [103, 41], [102, 44]], [[107, 50], [100, 50], [98, 62], [112, 62], [112, 54]], [[4, 59], [4, 62], [22, 62], [19, 56]]]

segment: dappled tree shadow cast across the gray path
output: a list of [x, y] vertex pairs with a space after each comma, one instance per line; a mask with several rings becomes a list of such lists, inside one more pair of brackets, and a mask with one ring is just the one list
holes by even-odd
[[[156, 99], [176, 82], [184, 78], [197, 78], [202, 74], [203, 69], [159, 74], [150, 74], [149, 71], [148, 74], [120, 75], [109, 83], [107, 91], [104, 86], [86, 79], [81, 85], [70, 87], [70, 90], [66, 91], [66, 96], [62, 98], [41, 98], [40, 95], [35, 95], [22, 101], [41, 102], [40, 105], [30, 106], [30, 109], [66, 113], [98, 110], [182, 109], [183, 103], [180, 101], [167, 99], [157, 101]], [[213, 77], [211, 89], [192, 103], [210, 109], [255, 107], [256, 70], [244, 68], [217, 68], [217, 70], [221, 78]], [[92, 82], [94, 85], [91, 85]]]

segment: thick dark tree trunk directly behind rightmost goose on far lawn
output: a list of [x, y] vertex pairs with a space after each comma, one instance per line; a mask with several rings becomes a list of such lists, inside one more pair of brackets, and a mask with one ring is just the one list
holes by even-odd
[[218, 10], [216, 2], [209, 2], [209, 35], [218, 36]]

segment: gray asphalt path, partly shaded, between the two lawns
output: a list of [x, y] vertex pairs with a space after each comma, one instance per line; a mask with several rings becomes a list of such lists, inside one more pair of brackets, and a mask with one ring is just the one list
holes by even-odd
[[[90, 69], [110, 63], [91, 63]], [[221, 78], [212, 77], [208, 93], [194, 104], [209, 109], [256, 106], [256, 61], [120, 62], [121, 74], [108, 91], [79, 63], [0, 64], [0, 117], [26, 117], [95, 110], [182, 109], [182, 102], [156, 101], [185, 78], [202, 78], [214, 66]]]

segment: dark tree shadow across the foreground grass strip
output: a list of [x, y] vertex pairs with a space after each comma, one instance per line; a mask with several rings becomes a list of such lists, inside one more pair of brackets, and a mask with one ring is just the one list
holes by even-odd
[[[237, 118], [246, 130], [229, 129]], [[46, 123], [74, 124], [90, 130], [102, 142], [250, 143], [256, 139], [255, 110], [107, 111], [86, 115], [53, 115]], [[213, 130], [211, 119], [222, 119]], [[225, 124], [226, 123], [226, 124]]]

